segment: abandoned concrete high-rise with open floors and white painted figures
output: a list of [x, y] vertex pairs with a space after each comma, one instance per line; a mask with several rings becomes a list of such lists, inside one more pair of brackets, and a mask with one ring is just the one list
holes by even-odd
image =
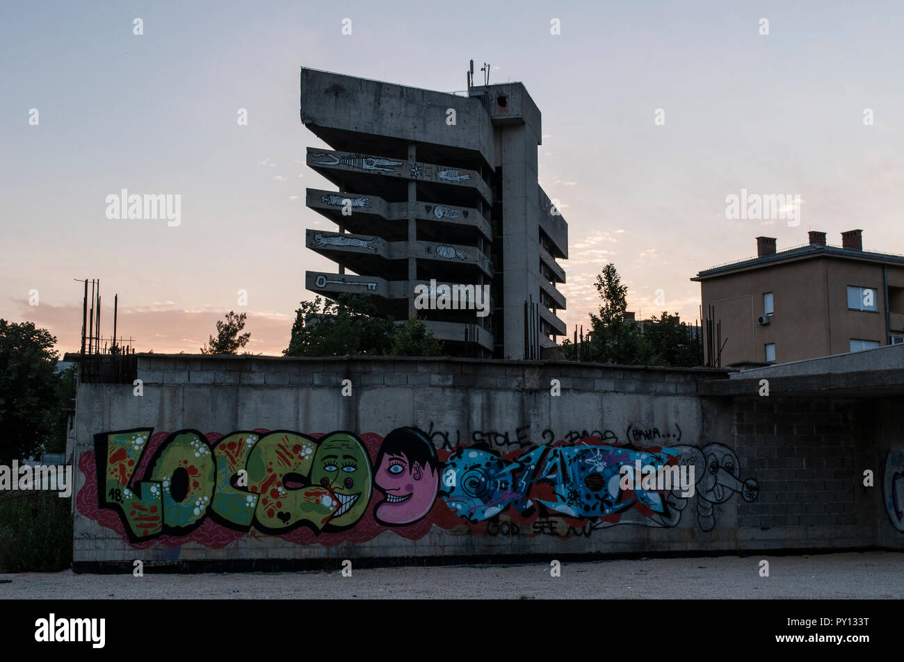
[[[338, 265], [306, 272], [308, 290], [422, 317], [452, 355], [540, 358], [566, 333], [568, 224], [537, 181], [541, 115], [523, 84], [462, 96], [302, 69], [301, 121], [332, 148], [308, 147], [307, 165], [337, 187], [307, 190], [337, 231], [307, 229], [306, 246]], [[486, 314], [416, 305], [431, 282], [488, 286]]]

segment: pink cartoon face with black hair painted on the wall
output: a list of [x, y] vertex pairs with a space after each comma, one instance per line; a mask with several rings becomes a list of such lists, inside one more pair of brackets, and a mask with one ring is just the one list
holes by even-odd
[[433, 444], [414, 428], [393, 430], [383, 440], [374, 481], [386, 497], [377, 505], [377, 521], [396, 527], [417, 522], [433, 507], [439, 489]]

